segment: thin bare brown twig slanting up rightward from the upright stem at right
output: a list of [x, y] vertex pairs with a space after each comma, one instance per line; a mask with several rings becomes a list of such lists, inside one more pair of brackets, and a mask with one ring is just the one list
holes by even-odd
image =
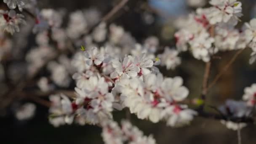
[[231, 66], [231, 64], [233, 64], [233, 62], [235, 61], [235, 59], [237, 58], [237, 56], [242, 53], [244, 50], [243, 49], [240, 49], [239, 51], [237, 51], [235, 53], [235, 55], [232, 57], [232, 59], [230, 59], [230, 61], [227, 63], [227, 65], [223, 68], [223, 70], [221, 72], [219, 72], [218, 75], [216, 75], [216, 77], [214, 78], [214, 80], [209, 84], [208, 88], [207, 89], [210, 89], [213, 87], [213, 85], [216, 84], [216, 82], [219, 80], [219, 78], [224, 74], [224, 72], [227, 71], [227, 69]]

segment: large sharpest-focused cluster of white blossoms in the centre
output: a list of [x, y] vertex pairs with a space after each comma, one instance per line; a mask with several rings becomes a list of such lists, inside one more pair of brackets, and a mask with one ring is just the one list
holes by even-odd
[[[141, 119], [154, 123], [163, 119], [168, 125], [179, 126], [189, 123], [197, 114], [187, 105], [179, 104], [189, 91], [182, 86], [181, 77], [164, 78], [159, 73], [154, 64], [160, 60], [148, 53], [124, 56], [120, 60], [114, 57], [118, 51], [114, 55], [113, 51], [92, 47], [72, 61], [75, 66], [81, 66], [73, 75], [77, 84], [74, 101], [61, 106], [69, 107], [62, 110], [66, 116], [78, 117], [82, 124], [99, 124], [102, 119], [112, 118], [113, 109], [128, 107]], [[138, 52], [138, 48], [134, 51]], [[51, 113], [56, 115], [54, 111]], [[69, 119], [66, 120], [69, 123]]]

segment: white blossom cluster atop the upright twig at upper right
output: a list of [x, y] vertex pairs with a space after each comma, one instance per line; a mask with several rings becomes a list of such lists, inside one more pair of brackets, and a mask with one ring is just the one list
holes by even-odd
[[212, 7], [197, 8], [175, 33], [178, 51], [191, 51], [196, 59], [210, 61], [218, 51], [245, 48], [246, 32], [235, 29], [242, 16], [241, 3], [237, 0], [210, 0]]

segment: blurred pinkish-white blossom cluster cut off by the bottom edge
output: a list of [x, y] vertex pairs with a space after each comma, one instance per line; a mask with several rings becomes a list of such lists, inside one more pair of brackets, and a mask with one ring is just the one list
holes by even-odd
[[101, 135], [105, 144], [156, 144], [151, 135], [144, 136], [142, 131], [124, 120], [121, 127], [113, 121], [104, 123]]

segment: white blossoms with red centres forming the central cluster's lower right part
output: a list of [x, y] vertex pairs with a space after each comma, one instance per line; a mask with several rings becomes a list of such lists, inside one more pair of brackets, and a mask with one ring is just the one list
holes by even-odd
[[197, 114], [179, 104], [189, 93], [182, 86], [181, 77], [164, 78], [161, 74], [149, 74], [144, 81], [123, 79], [114, 91], [120, 93], [121, 107], [128, 107], [138, 118], [147, 118], [153, 123], [165, 119], [167, 125], [180, 126], [189, 123]]

